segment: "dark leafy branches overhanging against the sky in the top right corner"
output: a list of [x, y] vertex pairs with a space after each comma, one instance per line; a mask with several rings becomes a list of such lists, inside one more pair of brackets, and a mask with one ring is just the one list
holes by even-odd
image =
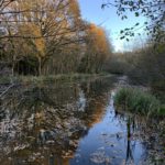
[[143, 15], [147, 19], [144, 24], [138, 22], [132, 28], [127, 28], [121, 31], [121, 38], [134, 36], [136, 29], [144, 28], [147, 35], [152, 35], [155, 42], [164, 42], [165, 35], [165, 1], [164, 0], [114, 0], [112, 3], [108, 1], [102, 4], [102, 8], [112, 6], [117, 8], [117, 14], [122, 20], [128, 19], [127, 12], [133, 12], [135, 16]]

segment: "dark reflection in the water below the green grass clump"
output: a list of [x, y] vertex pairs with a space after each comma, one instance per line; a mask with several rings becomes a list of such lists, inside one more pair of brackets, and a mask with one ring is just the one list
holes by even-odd
[[[141, 116], [131, 114], [125, 111], [116, 111], [116, 117], [121, 121], [121, 125], [127, 123], [127, 147], [125, 147], [125, 162], [127, 164], [135, 163], [134, 151], [139, 147], [139, 143], [142, 144], [144, 154], [142, 160], [147, 157], [146, 164], [152, 164], [151, 160], [154, 160], [156, 155], [164, 157], [163, 155], [163, 139], [158, 135], [158, 119], [148, 119]], [[136, 141], [139, 140], [139, 142]], [[162, 158], [161, 158], [162, 160]], [[155, 161], [155, 164], [160, 165], [160, 161]], [[164, 162], [161, 164], [164, 164]]]

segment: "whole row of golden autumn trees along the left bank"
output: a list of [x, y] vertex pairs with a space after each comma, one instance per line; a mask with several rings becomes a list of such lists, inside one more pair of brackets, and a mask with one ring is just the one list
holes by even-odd
[[3, 0], [0, 22], [1, 74], [99, 73], [112, 51], [77, 0]]

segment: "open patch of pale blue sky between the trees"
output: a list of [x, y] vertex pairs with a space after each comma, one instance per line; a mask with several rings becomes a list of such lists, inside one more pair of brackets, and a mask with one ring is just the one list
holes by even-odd
[[[135, 18], [133, 13], [128, 13], [129, 19], [122, 21], [117, 15], [117, 9], [114, 7], [101, 9], [103, 0], [78, 0], [78, 2], [82, 19], [106, 29], [116, 52], [131, 50], [131, 42], [120, 40], [120, 31], [125, 28], [131, 28], [138, 22], [144, 22], [144, 18]], [[110, 2], [113, 2], [113, 0], [110, 0]]]

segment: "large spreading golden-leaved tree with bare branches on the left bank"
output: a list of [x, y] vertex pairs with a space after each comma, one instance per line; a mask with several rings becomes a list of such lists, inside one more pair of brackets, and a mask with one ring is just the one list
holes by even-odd
[[1, 15], [2, 29], [7, 32], [0, 36], [1, 41], [9, 38], [14, 51], [18, 48], [18, 40], [28, 45], [26, 51], [21, 53], [18, 48], [12, 53], [12, 68], [19, 61], [19, 51], [25, 59], [26, 56], [34, 55], [41, 75], [51, 57], [61, 54], [69, 44], [77, 44], [82, 40], [84, 28], [76, 0], [15, 0]]

